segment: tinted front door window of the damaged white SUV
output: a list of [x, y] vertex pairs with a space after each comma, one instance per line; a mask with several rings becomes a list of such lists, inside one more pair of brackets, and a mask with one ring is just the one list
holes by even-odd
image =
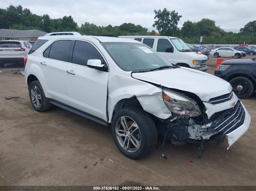
[[104, 62], [101, 54], [90, 43], [75, 41], [72, 63], [86, 66], [90, 59], [100, 59], [102, 63]]

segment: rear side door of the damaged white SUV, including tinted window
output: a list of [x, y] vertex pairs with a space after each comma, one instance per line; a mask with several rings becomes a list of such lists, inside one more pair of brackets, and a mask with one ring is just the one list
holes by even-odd
[[43, 52], [41, 68], [47, 83], [48, 97], [67, 104], [65, 76], [73, 40], [57, 40]]

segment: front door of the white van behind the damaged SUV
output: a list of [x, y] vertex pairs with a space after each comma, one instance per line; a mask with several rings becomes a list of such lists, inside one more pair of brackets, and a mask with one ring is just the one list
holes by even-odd
[[167, 53], [165, 52], [165, 50], [168, 47], [173, 47], [169, 39], [167, 38], [157, 39], [156, 51], [162, 56], [164, 56], [166, 59], [168, 59], [170, 62], [174, 63], [175, 49], [173, 53]]

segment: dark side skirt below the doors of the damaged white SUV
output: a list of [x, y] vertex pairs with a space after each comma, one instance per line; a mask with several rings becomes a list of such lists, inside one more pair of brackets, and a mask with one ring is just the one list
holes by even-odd
[[51, 98], [48, 98], [48, 97], [46, 98], [46, 100], [47, 100], [49, 103], [52, 103], [52, 105], [55, 105], [55, 106], [60, 107], [60, 108], [62, 108], [62, 109], [64, 109], [64, 110], [68, 110], [68, 111], [70, 111], [70, 112], [72, 112], [72, 113], [75, 113], [75, 114], [77, 114], [77, 115], [80, 115], [80, 116], [82, 116], [82, 117], [85, 117], [85, 118], [87, 118], [87, 119], [90, 119], [90, 120], [92, 120], [92, 121], [95, 121], [95, 122], [97, 122], [97, 123], [100, 123], [101, 125], [108, 126], [108, 122], [106, 122], [104, 119], [101, 119], [101, 118], [99, 118], [99, 117], [96, 117], [96, 116], [94, 116], [94, 115], [91, 115], [91, 114], [89, 114], [89, 113], [86, 113], [86, 112], [84, 112], [84, 111], [78, 110], [78, 109], [76, 109], [76, 108], [74, 108], [74, 107], [68, 106], [68, 105], [65, 104], [65, 103], [59, 102], [59, 101], [57, 101], [57, 100], [54, 100], [54, 99], [51, 99]]

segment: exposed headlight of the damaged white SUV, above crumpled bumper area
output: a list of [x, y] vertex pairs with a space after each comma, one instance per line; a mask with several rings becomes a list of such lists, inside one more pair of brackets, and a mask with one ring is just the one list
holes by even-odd
[[194, 100], [169, 90], [163, 90], [162, 94], [166, 107], [172, 113], [188, 117], [195, 117], [202, 114]]

